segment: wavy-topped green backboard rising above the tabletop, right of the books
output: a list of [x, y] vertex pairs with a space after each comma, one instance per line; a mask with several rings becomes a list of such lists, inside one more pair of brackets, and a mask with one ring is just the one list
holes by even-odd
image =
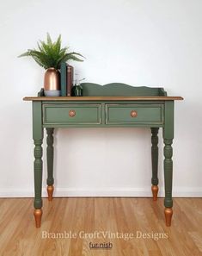
[[167, 96], [163, 88], [131, 86], [128, 84], [93, 84], [83, 83], [83, 96]]

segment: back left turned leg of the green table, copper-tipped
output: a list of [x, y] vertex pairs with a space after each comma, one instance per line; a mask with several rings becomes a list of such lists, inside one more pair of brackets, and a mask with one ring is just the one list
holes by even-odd
[[47, 155], [47, 194], [48, 200], [52, 201], [52, 193], [54, 190], [54, 178], [53, 178], [53, 155], [54, 155], [54, 148], [53, 148], [53, 132], [54, 128], [46, 128], [47, 133], [47, 148], [46, 148], [46, 155]]

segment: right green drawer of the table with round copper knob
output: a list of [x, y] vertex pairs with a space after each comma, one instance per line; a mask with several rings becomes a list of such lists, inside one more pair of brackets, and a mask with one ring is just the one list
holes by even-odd
[[163, 104], [106, 104], [106, 124], [162, 124]]

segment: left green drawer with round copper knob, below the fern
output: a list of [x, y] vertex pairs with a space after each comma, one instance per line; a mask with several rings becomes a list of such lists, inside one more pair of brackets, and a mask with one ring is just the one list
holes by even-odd
[[44, 104], [44, 124], [101, 124], [101, 104]]

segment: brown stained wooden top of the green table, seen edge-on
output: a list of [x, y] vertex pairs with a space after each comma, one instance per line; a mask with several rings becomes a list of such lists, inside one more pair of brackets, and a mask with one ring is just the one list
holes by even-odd
[[143, 100], [183, 100], [183, 97], [137, 96], [137, 97], [23, 97], [23, 101], [143, 101]]

